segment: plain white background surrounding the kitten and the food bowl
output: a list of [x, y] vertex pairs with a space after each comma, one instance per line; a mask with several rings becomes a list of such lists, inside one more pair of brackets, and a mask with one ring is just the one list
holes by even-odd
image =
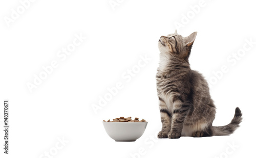
[[[10, 102], [10, 154], [1, 149], [1, 157], [46, 157], [49, 151], [56, 152], [54, 157], [254, 155], [256, 44], [236, 63], [227, 61], [243, 49], [246, 39], [256, 41], [252, 1], [205, 0], [194, 16], [190, 6], [199, 1], [118, 2], [113, 9], [109, 0], [38, 0], [9, 27], [5, 17], [11, 18], [12, 9], [21, 4], [0, 2], [0, 101]], [[189, 20], [183, 28], [176, 28], [175, 21], [182, 23], [183, 14], [189, 14]], [[208, 82], [214, 78], [213, 72], [223, 65], [228, 67], [219, 79], [212, 79], [210, 94], [217, 107], [215, 126], [228, 124], [236, 107], [242, 110], [241, 127], [231, 136], [156, 138], [161, 129], [155, 80], [157, 42], [175, 29], [182, 36], [198, 32], [189, 62]], [[75, 34], [87, 39], [61, 61], [57, 52], [67, 48]], [[140, 56], [151, 61], [131, 81], [123, 78]], [[58, 67], [30, 92], [27, 83], [33, 84], [34, 75], [53, 60]], [[96, 114], [92, 104], [98, 104], [100, 96], [108, 93], [107, 88], [118, 82], [123, 88]], [[3, 104], [0, 116], [3, 148]], [[136, 142], [115, 142], [105, 133], [101, 121], [120, 116], [148, 121], [145, 133]], [[55, 150], [62, 138], [68, 142]], [[230, 144], [235, 147], [230, 148]], [[143, 150], [142, 155], [139, 150]]]

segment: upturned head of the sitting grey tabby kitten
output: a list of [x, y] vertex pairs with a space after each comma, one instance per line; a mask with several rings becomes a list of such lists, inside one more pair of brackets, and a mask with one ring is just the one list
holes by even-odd
[[184, 59], [188, 63], [188, 57], [196, 36], [197, 32], [194, 32], [187, 37], [182, 37], [175, 31], [174, 34], [161, 36], [158, 41], [158, 48], [162, 55]]

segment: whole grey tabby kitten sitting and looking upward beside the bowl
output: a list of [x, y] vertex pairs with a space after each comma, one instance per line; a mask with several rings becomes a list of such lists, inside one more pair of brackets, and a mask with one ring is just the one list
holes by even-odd
[[216, 108], [209, 87], [202, 74], [191, 70], [188, 62], [196, 36], [194, 32], [182, 37], [175, 31], [159, 39], [156, 79], [162, 130], [158, 138], [226, 136], [242, 121], [242, 113], [236, 108], [228, 125], [212, 126]]

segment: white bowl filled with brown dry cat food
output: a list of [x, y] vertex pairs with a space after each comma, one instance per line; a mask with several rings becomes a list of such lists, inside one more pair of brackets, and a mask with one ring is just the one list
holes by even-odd
[[103, 126], [106, 130], [106, 133], [110, 138], [114, 139], [116, 142], [134, 142], [140, 138], [145, 129], [147, 121], [139, 118], [132, 117], [119, 117], [113, 119], [113, 121], [103, 120]]

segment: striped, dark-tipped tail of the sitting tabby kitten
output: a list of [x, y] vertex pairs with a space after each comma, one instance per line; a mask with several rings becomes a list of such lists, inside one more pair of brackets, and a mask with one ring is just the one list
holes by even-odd
[[234, 132], [242, 122], [242, 113], [241, 110], [237, 107], [236, 112], [234, 113], [234, 117], [231, 122], [225, 126], [213, 126], [214, 136], [228, 136]]

